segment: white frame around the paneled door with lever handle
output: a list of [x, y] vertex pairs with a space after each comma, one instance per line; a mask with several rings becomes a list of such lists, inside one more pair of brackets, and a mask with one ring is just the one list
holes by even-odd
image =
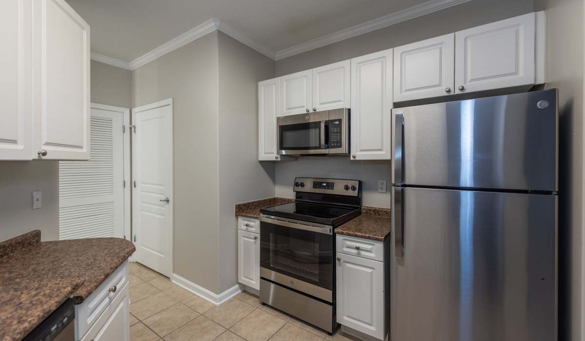
[[[168, 189], [168, 198], [170, 199], [170, 201], [173, 203], [173, 211], [171, 212], [171, 216], [170, 216], [170, 226], [171, 226], [171, 250], [170, 250], [170, 254], [171, 254], [171, 268], [170, 268], [170, 274], [174, 273], [174, 264], [175, 264], [175, 260], [174, 260], [174, 232], [175, 232], [175, 225], [174, 225], [174, 210], [175, 210], [175, 206], [174, 206], [174, 106], [173, 106], [173, 98], [167, 98], [167, 99], [163, 99], [162, 101], [158, 101], [158, 102], [154, 102], [154, 103], [150, 103], [150, 104], [146, 104], [143, 106], [137, 106], [136, 108], [132, 108], [132, 116], [134, 116], [136, 113], [142, 112], [142, 111], [147, 111], [147, 110], [151, 110], [151, 109], [156, 109], [156, 108], [161, 108], [163, 106], [170, 106], [171, 107], [171, 121], [173, 122], [173, 129], [171, 129], [171, 160], [173, 160], [173, 162], [171, 162], [170, 167], [170, 176], [171, 176], [171, 186]], [[135, 123], [135, 122], [132, 122]], [[134, 126], [132, 125], [131, 128], [134, 128]], [[133, 131], [133, 130], [132, 130]], [[132, 134], [132, 142], [134, 142], [135, 139], [135, 135]], [[136, 160], [134, 157], [134, 145], [132, 146], [132, 160]], [[134, 171], [135, 169], [132, 168], [132, 184], [134, 181]], [[132, 214], [136, 214], [135, 210], [136, 204], [140, 204], [140, 202], [132, 202]], [[134, 222], [134, 221], [132, 221]], [[134, 226], [132, 226], [132, 233], [135, 233], [135, 229]], [[130, 241], [132, 243], [134, 243], [135, 247], [136, 247], [136, 243], [134, 239], [130, 239]], [[137, 249], [137, 247], [136, 247]], [[133, 259], [134, 261], [136, 261], [136, 258]]]

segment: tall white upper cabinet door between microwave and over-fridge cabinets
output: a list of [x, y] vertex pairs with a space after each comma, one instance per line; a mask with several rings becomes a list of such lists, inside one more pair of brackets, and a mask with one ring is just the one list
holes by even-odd
[[393, 50], [352, 58], [352, 160], [389, 160]]

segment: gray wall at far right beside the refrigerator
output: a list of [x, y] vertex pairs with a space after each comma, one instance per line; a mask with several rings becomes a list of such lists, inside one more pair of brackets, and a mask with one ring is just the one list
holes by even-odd
[[[581, 337], [583, 241], [583, 0], [546, 9], [546, 88], [559, 89], [559, 340]], [[559, 53], [560, 52], [560, 53]]]

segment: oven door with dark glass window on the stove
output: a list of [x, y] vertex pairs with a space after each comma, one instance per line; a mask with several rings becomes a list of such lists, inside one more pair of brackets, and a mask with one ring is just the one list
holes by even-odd
[[333, 302], [333, 229], [314, 225], [261, 216], [260, 277]]

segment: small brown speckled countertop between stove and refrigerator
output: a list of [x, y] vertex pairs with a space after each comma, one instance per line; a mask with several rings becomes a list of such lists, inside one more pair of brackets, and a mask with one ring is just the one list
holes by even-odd
[[383, 242], [390, 233], [390, 209], [362, 206], [362, 215], [335, 228], [335, 233]]

